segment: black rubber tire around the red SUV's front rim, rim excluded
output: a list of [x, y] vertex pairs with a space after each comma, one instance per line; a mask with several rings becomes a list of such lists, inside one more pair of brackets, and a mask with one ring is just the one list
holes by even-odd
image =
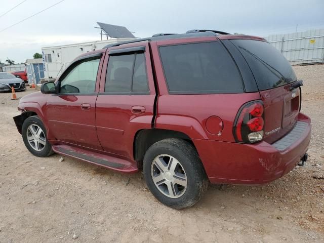
[[[28, 129], [28, 127], [30, 125], [37, 125], [44, 132], [46, 144], [45, 144], [44, 148], [41, 151], [35, 150], [29, 144], [29, 142], [27, 140], [27, 129]], [[22, 134], [22, 139], [24, 140], [24, 143], [25, 143], [26, 148], [33, 155], [35, 155], [37, 157], [48, 157], [48, 156], [50, 156], [50, 155], [52, 155], [54, 153], [53, 150], [52, 150], [52, 145], [47, 140], [46, 128], [45, 128], [45, 126], [43, 124], [43, 121], [38, 117], [38, 115], [29, 116], [28, 118], [26, 118], [24, 120], [24, 123], [22, 125], [22, 129], [21, 129], [21, 134]]]

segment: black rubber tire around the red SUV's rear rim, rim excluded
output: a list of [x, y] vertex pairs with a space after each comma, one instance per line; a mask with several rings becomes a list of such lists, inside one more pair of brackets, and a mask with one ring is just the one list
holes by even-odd
[[[176, 158], [185, 171], [187, 187], [180, 197], [171, 198], [166, 196], [157, 188], [153, 181], [152, 163], [161, 154], [168, 154]], [[157, 200], [174, 209], [184, 209], [193, 206], [206, 192], [209, 184], [196, 149], [183, 139], [164, 139], [150, 146], [144, 156], [143, 174], [149, 190]]]

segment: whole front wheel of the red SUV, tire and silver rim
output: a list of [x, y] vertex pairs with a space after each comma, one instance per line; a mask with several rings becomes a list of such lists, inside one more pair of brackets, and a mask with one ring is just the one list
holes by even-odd
[[26, 148], [33, 155], [47, 157], [54, 153], [52, 145], [47, 140], [45, 126], [37, 115], [25, 119], [21, 133]]

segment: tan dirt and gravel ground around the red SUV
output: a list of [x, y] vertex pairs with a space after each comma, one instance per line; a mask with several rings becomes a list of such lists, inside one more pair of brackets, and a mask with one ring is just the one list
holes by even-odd
[[294, 69], [313, 126], [306, 166], [264, 186], [210, 185], [181, 211], [160, 204], [142, 173], [31, 155], [12, 119], [18, 100], [1, 93], [0, 242], [324, 242], [324, 180], [313, 178], [324, 173], [324, 65]]

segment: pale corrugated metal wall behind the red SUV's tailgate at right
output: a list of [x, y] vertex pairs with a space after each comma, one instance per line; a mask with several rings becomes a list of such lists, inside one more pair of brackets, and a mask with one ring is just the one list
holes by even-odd
[[324, 29], [265, 37], [291, 64], [324, 63]]

